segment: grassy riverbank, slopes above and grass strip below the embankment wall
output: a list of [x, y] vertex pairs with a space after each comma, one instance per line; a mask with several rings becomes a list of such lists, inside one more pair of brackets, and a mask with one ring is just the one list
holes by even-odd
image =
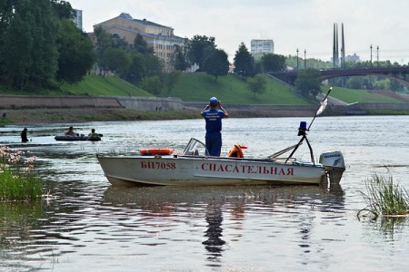
[[[181, 73], [175, 87], [163, 96], [178, 97], [183, 102], [207, 102], [209, 97], [216, 96], [224, 104], [271, 104], [271, 105], [308, 105], [311, 101], [295, 94], [283, 83], [265, 76], [266, 91], [254, 95], [247, 88], [246, 82], [240, 76], [229, 73], [214, 81], [214, 77], [206, 73]], [[322, 92], [326, 93], [327, 86]], [[0, 86], [0, 94], [25, 95], [108, 95], [108, 96], [151, 96], [131, 83], [115, 76], [87, 75], [84, 81], [76, 84], [64, 84], [60, 90], [41, 90], [39, 92], [20, 92], [6, 90]], [[331, 92], [334, 98], [352, 102], [401, 103], [396, 98], [382, 93], [364, 90], [351, 90], [335, 87]], [[78, 122], [78, 121], [137, 121], [137, 120], [176, 120], [200, 118], [198, 109], [184, 109], [169, 112], [144, 112], [114, 108], [73, 108], [73, 109], [0, 109], [6, 112], [6, 118], [0, 118], [0, 125], [6, 123], [46, 123], [46, 122]], [[239, 112], [231, 111], [232, 117], [282, 117], [302, 116], [302, 112]], [[408, 114], [408, 112], [381, 111], [370, 114]]]

